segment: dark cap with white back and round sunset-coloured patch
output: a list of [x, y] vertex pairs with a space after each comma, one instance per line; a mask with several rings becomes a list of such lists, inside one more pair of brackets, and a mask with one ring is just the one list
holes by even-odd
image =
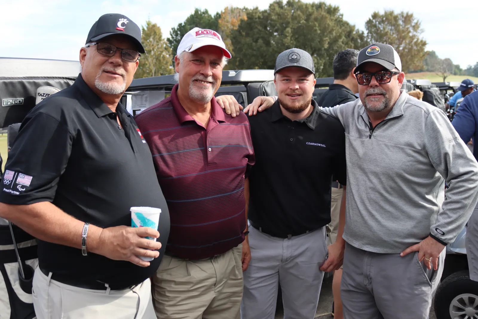
[[375, 62], [391, 71], [397, 68], [402, 72], [402, 61], [397, 51], [389, 45], [383, 43], [373, 43], [363, 48], [357, 58], [357, 67], [354, 73], [360, 71], [360, 66], [367, 62]]

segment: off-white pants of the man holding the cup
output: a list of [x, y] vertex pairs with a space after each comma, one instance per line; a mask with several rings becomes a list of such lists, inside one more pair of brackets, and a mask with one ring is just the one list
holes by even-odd
[[107, 293], [51, 280], [37, 267], [32, 292], [37, 319], [156, 319], [149, 279]]

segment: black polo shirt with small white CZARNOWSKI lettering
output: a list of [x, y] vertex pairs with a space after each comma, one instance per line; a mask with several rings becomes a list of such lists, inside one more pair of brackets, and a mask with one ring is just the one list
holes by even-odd
[[248, 216], [272, 236], [295, 236], [328, 224], [332, 175], [346, 184], [344, 128], [314, 100], [312, 105], [312, 113], [300, 121], [282, 115], [279, 101], [249, 117], [256, 164], [249, 176]]

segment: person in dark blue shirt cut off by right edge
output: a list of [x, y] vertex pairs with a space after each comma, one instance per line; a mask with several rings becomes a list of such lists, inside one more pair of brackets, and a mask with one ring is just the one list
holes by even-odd
[[[463, 142], [468, 143], [472, 137], [473, 141], [478, 141], [478, 91], [463, 99], [456, 111], [452, 125]], [[473, 155], [476, 159], [478, 158], [478, 147], [473, 147]], [[467, 257], [470, 279], [478, 281], [478, 205], [468, 220]]]

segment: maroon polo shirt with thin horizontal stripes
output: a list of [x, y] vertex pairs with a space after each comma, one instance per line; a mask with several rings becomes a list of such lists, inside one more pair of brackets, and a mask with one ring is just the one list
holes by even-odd
[[244, 241], [244, 176], [254, 164], [254, 150], [244, 113], [225, 116], [213, 98], [206, 130], [179, 103], [177, 88], [135, 120], [168, 203], [166, 253], [202, 259]]

